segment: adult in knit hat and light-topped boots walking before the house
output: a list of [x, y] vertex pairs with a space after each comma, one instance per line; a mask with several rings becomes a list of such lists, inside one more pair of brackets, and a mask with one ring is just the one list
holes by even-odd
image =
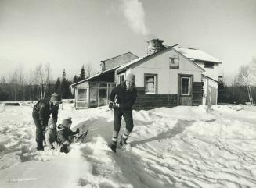
[[121, 128], [121, 119], [124, 117], [126, 129], [121, 136], [120, 144], [127, 144], [129, 134], [133, 129], [132, 105], [135, 103], [137, 90], [135, 88], [135, 75], [130, 73], [123, 83], [115, 87], [110, 94], [109, 108], [114, 108], [114, 131], [112, 134], [112, 151], [116, 152], [117, 139]]

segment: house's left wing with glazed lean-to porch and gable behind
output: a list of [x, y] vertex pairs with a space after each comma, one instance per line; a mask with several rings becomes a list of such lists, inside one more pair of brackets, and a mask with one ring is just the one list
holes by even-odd
[[70, 85], [74, 89], [75, 108], [93, 108], [108, 104], [111, 90], [116, 86], [117, 67], [137, 59], [131, 52], [101, 61], [102, 72]]

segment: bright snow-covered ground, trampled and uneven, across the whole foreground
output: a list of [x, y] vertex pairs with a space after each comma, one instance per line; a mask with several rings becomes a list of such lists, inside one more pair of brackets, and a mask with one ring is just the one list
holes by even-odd
[[134, 111], [129, 146], [114, 154], [113, 112], [64, 103], [58, 122], [72, 117], [73, 129], [89, 133], [63, 154], [35, 150], [33, 105], [0, 104], [1, 187], [256, 187], [255, 106]]

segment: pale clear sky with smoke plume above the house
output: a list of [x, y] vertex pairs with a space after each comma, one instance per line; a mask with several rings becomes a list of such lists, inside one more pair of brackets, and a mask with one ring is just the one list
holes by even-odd
[[256, 57], [254, 0], [0, 0], [0, 77], [49, 63], [52, 78], [131, 51], [146, 41], [199, 48], [222, 60], [224, 77]]

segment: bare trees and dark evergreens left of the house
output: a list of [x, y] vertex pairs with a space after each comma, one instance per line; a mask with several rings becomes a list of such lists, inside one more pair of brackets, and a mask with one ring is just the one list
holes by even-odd
[[49, 98], [52, 93], [58, 93], [65, 98], [74, 98], [70, 85], [80, 80], [85, 80], [92, 74], [92, 66], [86, 64], [81, 67], [79, 76], [73, 80], [67, 79], [66, 70], [56, 80], [52, 79], [52, 69], [49, 63], [38, 64], [29, 73], [19, 66], [9, 74], [8, 78], [0, 78], [0, 101], [34, 101]]

